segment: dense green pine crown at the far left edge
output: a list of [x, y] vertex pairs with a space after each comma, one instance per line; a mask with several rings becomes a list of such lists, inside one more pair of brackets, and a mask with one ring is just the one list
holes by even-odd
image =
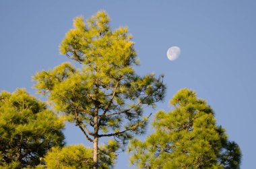
[[0, 94], [0, 166], [36, 166], [55, 145], [63, 145], [63, 121], [46, 105], [18, 89]]

